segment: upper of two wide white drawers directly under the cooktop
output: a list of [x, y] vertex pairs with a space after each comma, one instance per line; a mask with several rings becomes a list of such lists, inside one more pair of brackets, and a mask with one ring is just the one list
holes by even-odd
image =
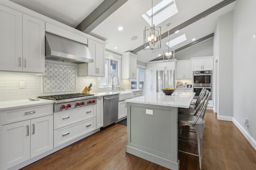
[[96, 116], [96, 104], [54, 113], [54, 130]]

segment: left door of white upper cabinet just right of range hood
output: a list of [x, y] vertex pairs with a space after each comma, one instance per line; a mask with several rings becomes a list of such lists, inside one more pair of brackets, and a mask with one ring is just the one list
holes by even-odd
[[93, 59], [93, 63], [88, 63], [88, 76], [97, 76], [96, 72], [96, 66], [95, 66], [95, 62], [96, 62], [96, 47], [97, 47], [97, 42], [93, 41], [91, 39], [88, 39], [88, 49], [91, 53], [92, 59]]

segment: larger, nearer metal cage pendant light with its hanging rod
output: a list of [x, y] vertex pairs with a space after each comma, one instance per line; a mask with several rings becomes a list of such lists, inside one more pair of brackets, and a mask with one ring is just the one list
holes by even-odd
[[158, 51], [161, 48], [161, 27], [153, 24], [153, 0], [152, 0], [152, 26], [145, 27], [144, 30], [144, 50]]

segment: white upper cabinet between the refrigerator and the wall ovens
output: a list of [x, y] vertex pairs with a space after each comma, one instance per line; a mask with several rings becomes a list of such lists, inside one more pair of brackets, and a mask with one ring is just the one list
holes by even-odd
[[191, 61], [177, 61], [176, 79], [192, 79]]

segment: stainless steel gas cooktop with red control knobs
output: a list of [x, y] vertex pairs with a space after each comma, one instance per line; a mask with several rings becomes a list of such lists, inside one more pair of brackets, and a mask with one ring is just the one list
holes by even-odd
[[72, 110], [97, 103], [97, 97], [93, 94], [61, 94], [53, 96], [38, 96], [38, 98], [54, 100], [54, 112]]

